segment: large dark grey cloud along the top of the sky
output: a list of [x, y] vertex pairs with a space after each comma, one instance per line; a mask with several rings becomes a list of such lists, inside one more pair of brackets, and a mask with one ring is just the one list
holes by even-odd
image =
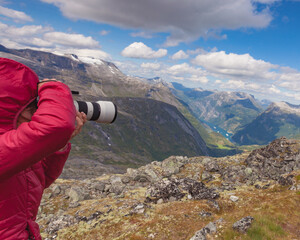
[[[183, 41], [218, 35], [223, 29], [267, 27], [272, 20], [268, 6], [277, 0], [42, 1], [56, 5], [71, 19], [170, 33], [165, 45], [175, 46]], [[264, 7], [258, 8], [256, 2]]]

